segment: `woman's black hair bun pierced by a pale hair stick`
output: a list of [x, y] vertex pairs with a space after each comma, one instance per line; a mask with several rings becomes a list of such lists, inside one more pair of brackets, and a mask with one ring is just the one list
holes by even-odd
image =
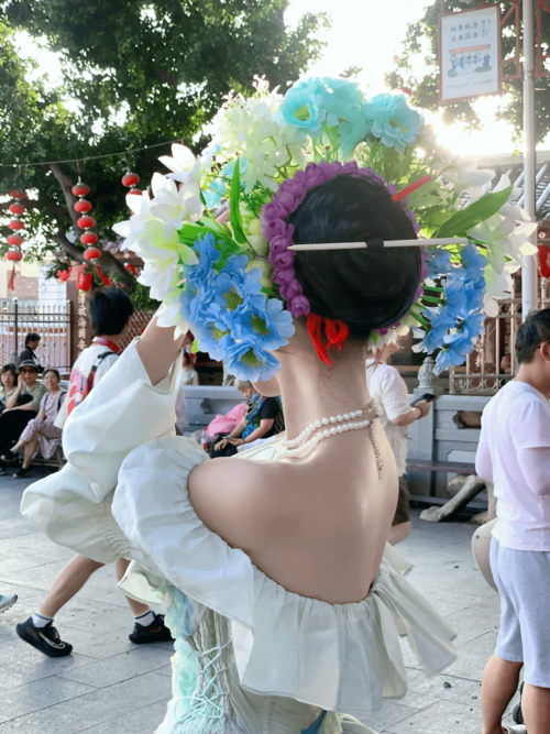
[[[289, 218], [295, 244], [416, 239], [405, 208], [385, 186], [344, 174], [308, 191]], [[420, 248], [302, 251], [294, 259], [298, 283], [318, 316], [344, 321], [366, 339], [410, 308], [420, 283]]]

